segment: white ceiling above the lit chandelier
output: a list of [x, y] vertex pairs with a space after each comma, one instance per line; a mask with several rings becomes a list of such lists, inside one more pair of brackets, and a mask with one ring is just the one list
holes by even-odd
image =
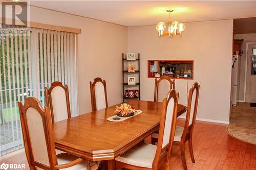
[[123, 26], [256, 17], [256, 1], [30, 1], [31, 5]]

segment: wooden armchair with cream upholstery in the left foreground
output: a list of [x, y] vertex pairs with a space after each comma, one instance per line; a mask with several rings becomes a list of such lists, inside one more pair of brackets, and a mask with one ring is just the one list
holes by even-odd
[[30, 169], [98, 169], [98, 164], [75, 155], [56, 155], [50, 110], [33, 97], [18, 102], [26, 157]]

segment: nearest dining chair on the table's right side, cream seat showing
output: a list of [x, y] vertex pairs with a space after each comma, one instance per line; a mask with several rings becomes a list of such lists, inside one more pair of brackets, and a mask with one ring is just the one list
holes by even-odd
[[159, 127], [159, 142], [156, 145], [139, 143], [124, 154], [115, 158], [116, 168], [129, 169], [170, 169], [170, 152], [174, 140], [179, 93], [168, 92], [162, 102]]

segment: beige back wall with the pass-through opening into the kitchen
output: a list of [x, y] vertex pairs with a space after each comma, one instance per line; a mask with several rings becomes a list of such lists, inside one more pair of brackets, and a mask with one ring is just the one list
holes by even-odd
[[[183, 37], [158, 37], [155, 26], [128, 28], [128, 51], [141, 56], [141, 100], [154, 98], [147, 78], [148, 59], [194, 60], [200, 86], [198, 119], [228, 123], [231, 87], [232, 20], [186, 23]], [[186, 80], [176, 81], [179, 103], [186, 105]]]

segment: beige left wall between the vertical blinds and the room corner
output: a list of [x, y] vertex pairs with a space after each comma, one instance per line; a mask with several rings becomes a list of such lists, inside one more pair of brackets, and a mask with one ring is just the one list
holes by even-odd
[[91, 111], [89, 82], [96, 77], [106, 80], [109, 105], [122, 101], [121, 54], [127, 51], [127, 27], [34, 7], [30, 19], [81, 29], [77, 54], [79, 114]]

